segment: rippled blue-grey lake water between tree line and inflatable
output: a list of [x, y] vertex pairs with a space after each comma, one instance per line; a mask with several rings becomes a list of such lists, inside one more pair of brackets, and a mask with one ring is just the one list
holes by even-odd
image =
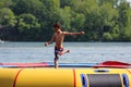
[[[52, 62], [53, 45], [45, 47], [44, 42], [0, 44], [0, 62]], [[60, 57], [61, 63], [131, 63], [131, 42], [64, 42], [64, 49], [70, 49], [70, 53]]]

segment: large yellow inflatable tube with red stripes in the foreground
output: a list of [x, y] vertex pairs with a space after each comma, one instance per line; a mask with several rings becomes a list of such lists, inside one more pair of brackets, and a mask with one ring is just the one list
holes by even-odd
[[0, 87], [131, 87], [131, 69], [0, 69]]

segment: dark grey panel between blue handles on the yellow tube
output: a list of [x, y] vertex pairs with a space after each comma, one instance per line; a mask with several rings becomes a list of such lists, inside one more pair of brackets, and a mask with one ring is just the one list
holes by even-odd
[[90, 87], [122, 87], [119, 74], [87, 74]]

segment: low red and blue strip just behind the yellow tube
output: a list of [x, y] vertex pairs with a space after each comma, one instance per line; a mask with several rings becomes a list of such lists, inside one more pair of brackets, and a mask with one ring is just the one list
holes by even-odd
[[[40, 63], [0, 63], [0, 67], [55, 67], [52, 62]], [[130, 69], [131, 63], [105, 61], [103, 63], [59, 63], [59, 67], [116, 67]]]

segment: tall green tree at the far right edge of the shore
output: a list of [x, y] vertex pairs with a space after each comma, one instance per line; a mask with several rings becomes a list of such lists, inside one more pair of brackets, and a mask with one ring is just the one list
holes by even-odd
[[119, 37], [120, 40], [129, 39], [131, 38], [131, 9], [130, 9], [130, 3], [127, 2], [126, 0], [121, 0], [119, 7], [119, 17], [118, 17], [118, 24], [120, 28]]

